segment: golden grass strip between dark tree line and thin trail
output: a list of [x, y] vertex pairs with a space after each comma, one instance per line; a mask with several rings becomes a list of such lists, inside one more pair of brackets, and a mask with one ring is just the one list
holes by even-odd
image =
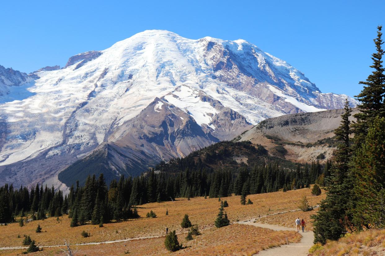
[[[316, 205], [324, 198], [324, 193], [318, 197], [312, 197], [310, 191], [310, 189], [304, 188], [285, 193], [274, 192], [249, 195], [248, 198], [254, 202], [253, 205], [241, 205], [239, 196], [222, 199], [228, 201], [229, 207], [225, 208], [225, 210], [230, 221], [235, 222], [237, 220], [242, 221], [256, 218], [258, 215], [263, 216], [296, 209], [303, 195], [308, 197], [310, 205]], [[169, 211], [167, 216], [165, 214], [166, 208]], [[21, 246], [23, 235], [31, 236], [39, 245], [56, 245], [63, 244], [63, 239], [74, 244], [164, 235], [166, 227], [170, 231], [176, 230], [177, 233], [180, 233], [187, 231], [180, 226], [185, 213], [189, 214], [193, 224], [199, 225], [199, 229], [212, 228], [218, 214], [218, 208], [218, 198], [204, 199], [199, 197], [191, 198], [189, 201], [180, 198], [173, 202], [149, 203], [138, 208], [139, 215], [145, 216], [148, 211], [153, 210], [157, 214], [157, 218], [140, 218], [119, 223], [108, 223], [104, 224], [102, 228], [99, 228], [97, 225], [70, 228], [70, 219], [67, 215], [60, 217], [59, 223], [56, 221], [56, 218], [32, 221], [26, 223], [23, 227], [20, 227], [18, 223], [12, 223], [8, 226], [0, 226], [0, 247]], [[280, 217], [287, 218], [287, 221], [293, 221], [291, 216], [281, 215]], [[43, 228], [42, 233], [35, 233], [38, 223]], [[82, 230], [89, 232], [91, 236], [83, 238], [80, 235]], [[217, 229], [214, 228], [214, 230]], [[21, 238], [17, 238], [17, 235], [20, 235]], [[104, 246], [106, 245], [101, 247]], [[163, 246], [162, 243], [161, 246]]]

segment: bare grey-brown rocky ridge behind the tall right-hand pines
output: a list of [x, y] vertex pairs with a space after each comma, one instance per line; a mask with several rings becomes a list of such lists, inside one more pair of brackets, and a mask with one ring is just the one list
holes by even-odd
[[[358, 109], [353, 109], [352, 115]], [[239, 135], [236, 141], [249, 140], [261, 144], [275, 153], [277, 145], [288, 150], [286, 159], [298, 162], [311, 162], [321, 153], [330, 158], [335, 147], [323, 139], [335, 136], [334, 130], [340, 125], [343, 109], [290, 114], [266, 119], [252, 129]], [[353, 117], [350, 120], [354, 120]]]

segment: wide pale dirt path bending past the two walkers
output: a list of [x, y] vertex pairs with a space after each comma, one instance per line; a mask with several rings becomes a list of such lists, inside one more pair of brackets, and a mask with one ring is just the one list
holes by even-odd
[[[286, 228], [283, 226], [278, 225], [270, 225], [270, 224], [263, 224], [263, 223], [254, 223], [253, 221], [242, 221], [238, 222], [239, 224], [245, 224], [245, 225], [252, 225], [257, 226], [260, 228], [269, 228], [271, 230], [289, 230], [289, 231], [295, 231], [296, 228], [293, 225], [293, 228]], [[306, 231], [302, 232], [300, 231], [302, 235], [302, 239], [299, 243], [289, 243], [285, 244], [279, 247], [270, 248], [267, 250], [260, 251], [258, 256], [277, 256], [277, 255], [285, 255], [285, 256], [301, 256], [301, 255], [308, 255], [309, 249], [311, 246], [313, 246], [313, 240], [314, 240], [314, 234], [313, 231]]]

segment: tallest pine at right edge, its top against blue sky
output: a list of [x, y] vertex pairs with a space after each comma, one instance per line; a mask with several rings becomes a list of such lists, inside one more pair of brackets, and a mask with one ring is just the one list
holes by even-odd
[[363, 90], [356, 97], [360, 104], [357, 106], [360, 110], [354, 117], [357, 119], [353, 124], [354, 130], [354, 151], [361, 147], [365, 141], [369, 124], [372, 123], [376, 116], [385, 116], [384, 96], [385, 96], [385, 68], [382, 65], [382, 26], [377, 27], [377, 38], [373, 41], [376, 46], [376, 52], [372, 54], [373, 68], [372, 74], [368, 76], [366, 81], [361, 81], [364, 85]]

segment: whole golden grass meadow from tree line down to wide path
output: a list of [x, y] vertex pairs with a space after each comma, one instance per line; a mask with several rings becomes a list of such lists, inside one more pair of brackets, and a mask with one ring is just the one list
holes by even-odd
[[[274, 214], [297, 209], [303, 195], [308, 197], [310, 205], [316, 205], [325, 198], [324, 192], [320, 196], [314, 197], [311, 195], [310, 189], [303, 188], [288, 192], [248, 195], [247, 198], [253, 201], [252, 205], [241, 205], [239, 196], [221, 199], [227, 200], [229, 203], [229, 207], [224, 209], [231, 223], [258, 218], [259, 215], [271, 215], [261, 218], [261, 221], [290, 226], [290, 223], [294, 223], [297, 215], [308, 220], [315, 211]], [[71, 228], [67, 215], [59, 217], [59, 221], [56, 218], [47, 218], [44, 221], [31, 221], [23, 227], [20, 227], [18, 223], [12, 223], [8, 226], [0, 226], [0, 247], [22, 246], [23, 235], [29, 235], [40, 246], [50, 246], [64, 244], [64, 239], [70, 244], [79, 244], [161, 236], [165, 234], [166, 227], [169, 231], [176, 230], [176, 233], [182, 233], [178, 235], [178, 239], [187, 248], [173, 253], [177, 255], [251, 255], [262, 249], [285, 243], [284, 238], [286, 237], [293, 242], [300, 240], [300, 235], [295, 232], [294, 225], [292, 225], [293, 232], [273, 231], [240, 224], [215, 228], [214, 220], [218, 214], [219, 204], [218, 198], [204, 199], [203, 197], [191, 198], [191, 200], [178, 198], [175, 201], [148, 203], [138, 207], [141, 218], [107, 223], [103, 227], [83, 225]], [[169, 215], [166, 215], [166, 209], [168, 209]], [[157, 218], [145, 217], [150, 210], [156, 213]], [[180, 225], [186, 213], [192, 224], [197, 224], [202, 233], [188, 242], [184, 239], [187, 229], [181, 228]], [[310, 220], [307, 222], [307, 225], [311, 226]], [[38, 224], [42, 227], [42, 233], [35, 233]], [[82, 237], [80, 233], [83, 230], [90, 233], [90, 237]], [[125, 252], [130, 255], [169, 254], [163, 243], [164, 237], [159, 237], [77, 247], [79, 255], [123, 255]], [[76, 248], [76, 246], [71, 247]], [[0, 255], [17, 255], [22, 251], [24, 250], [2, 250]], [[44, 248], [44, 251], [33, 254], [61, 255], [60, 252], [60, 249], [56, 247]]]

